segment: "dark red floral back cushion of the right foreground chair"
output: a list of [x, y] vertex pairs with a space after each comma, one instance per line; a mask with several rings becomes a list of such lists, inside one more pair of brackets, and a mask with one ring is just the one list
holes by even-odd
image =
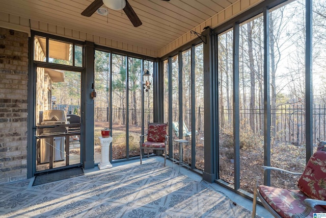
[[[298, 188], [309, 198], [326, 200], [326, 152], [314, 153], [297, 183]], [[323, 206], [326, 209], [326, 206]]]

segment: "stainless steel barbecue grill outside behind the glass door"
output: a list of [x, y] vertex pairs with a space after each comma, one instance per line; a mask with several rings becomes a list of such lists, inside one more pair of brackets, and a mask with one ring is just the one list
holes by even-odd
[[[67, 133], [67, 116], [64, 110], [46, 110], [43, 112], [43, 121], [39, 125], [40, 136], [50, 136]], [[65, 137], [47, 137], [40, 139], [39, 163], [48, 163], [50, 146], [53, 147], [53, 161], [62, 161], [65, 158]]]

